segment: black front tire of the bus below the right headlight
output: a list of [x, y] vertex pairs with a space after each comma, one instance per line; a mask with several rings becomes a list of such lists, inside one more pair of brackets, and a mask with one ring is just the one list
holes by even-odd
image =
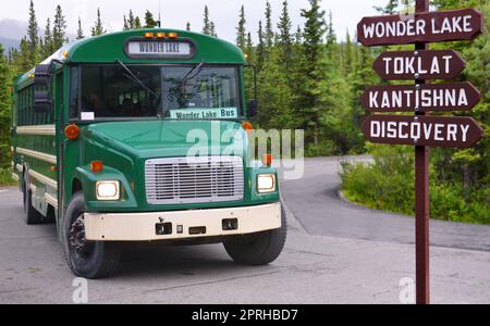
[[281, 208], [282, 225], [278, 229], [230, 237], [223, 244], [228, 254], [238, 264], [267, 265], [278, 259], [287, 237], [287, 221]]

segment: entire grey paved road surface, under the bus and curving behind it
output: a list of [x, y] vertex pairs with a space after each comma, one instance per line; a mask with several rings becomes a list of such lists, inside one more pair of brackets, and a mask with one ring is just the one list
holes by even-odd
[[[135, 248], [117, 275], [88, 281], [89, 303], [399, 303], [401, 279], [414, 277], [414, 247], [404, 236], [411, 220], [330, 196], [336, 161], [308, 160], [303, 180], [283, 184], [287, 208], [299, 218], [289, 212], [286, 248], [273, 264], [236, 265], [220, 244]], [[308, 184], [323, 190], [295, 190]], [[322, 214], [309, 215], [321, 199], [328, 203]], [[377, 225], [393, 236], [368, 227], [377, 218], [391, 223]], [[406, 230], [392, 230], [397, 223]], [[485, 242], [474, 243], [480, 250], [431, 248], [433, 302], [490, 303], [490, 252], [481, 250]], [[72, 303], [73, 279], [54, 226], [24, 225], [21, 193], [0, 189], [0, 303]]]

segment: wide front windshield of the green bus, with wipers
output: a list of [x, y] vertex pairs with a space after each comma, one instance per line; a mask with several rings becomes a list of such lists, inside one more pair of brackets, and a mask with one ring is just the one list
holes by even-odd
[[71, 117], [237, 120], [236, 66], [83, 65], [71, 72]]

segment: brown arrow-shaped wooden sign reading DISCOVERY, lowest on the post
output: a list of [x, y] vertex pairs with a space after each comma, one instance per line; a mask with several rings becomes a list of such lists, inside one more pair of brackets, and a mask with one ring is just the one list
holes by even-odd
[[370, 115], [363, 133], [371, 142], [469, 148], [483, 130], [473, 117]]

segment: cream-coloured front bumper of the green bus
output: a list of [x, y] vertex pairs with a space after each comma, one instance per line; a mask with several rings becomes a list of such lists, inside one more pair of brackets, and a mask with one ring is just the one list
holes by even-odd
[[[254, 234], [281, 227], [281, 203], [155, 213], [85, 213], [91, 241], [152, 241]], [[223, 221], [225, 223], [223, 223]], [[226, 227], [232, 221], [233, 229]], [[166, 234], [161, 230], [166, 226]], [[197, 230], [197, 234], [196, 234]]]

